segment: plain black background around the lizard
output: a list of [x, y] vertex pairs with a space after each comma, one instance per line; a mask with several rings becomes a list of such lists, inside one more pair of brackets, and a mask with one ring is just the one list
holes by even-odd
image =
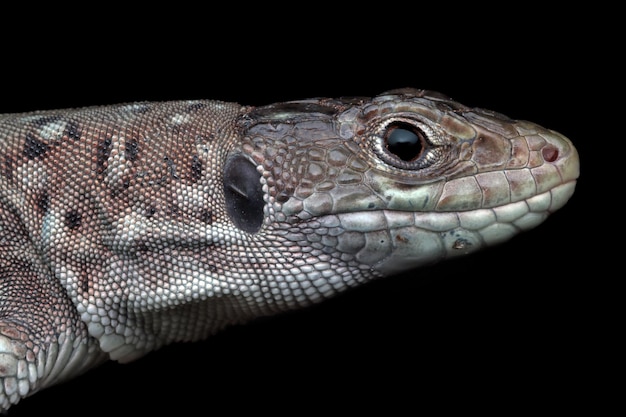
[[486, 15], [452, 5], [389, 4], [364, 15], [246, 7], [14, 16], [1, 54], [0, 112], [200, 98], [262, 105], [412, 86], [565, 134], [581, 157], [577, 192], [505, 245], [132, 364], [108, 363], [10, 415], [597, 404], [589, 393], [602, 379], [596, 348], [605, 343], [597, 330], [605, 317], [596, 289], [610, 258], [597, 236], [619, 222], [607, 219], [602, 198], [611, 185], [602, 166], [613, 151], [598, 127], [610, 107], [600, 95], [611, 66], [600, 63], [605, 52], [586, 29], [592, 16], [540, 8]]

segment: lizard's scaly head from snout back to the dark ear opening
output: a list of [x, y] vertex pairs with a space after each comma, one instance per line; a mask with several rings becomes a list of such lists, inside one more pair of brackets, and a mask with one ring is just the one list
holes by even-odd
[[424, 90], [270, 105], [242, 125], [230, 218], [338, 287], [504, 242], [561, 208], [579, 174], [563, 135]]

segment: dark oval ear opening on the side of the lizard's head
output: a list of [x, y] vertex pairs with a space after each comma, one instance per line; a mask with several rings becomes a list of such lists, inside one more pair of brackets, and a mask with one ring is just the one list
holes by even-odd
[[226, 213], [235, 226], [248, 233], [256, 233], [263, 224], [263, 189], [261, 174], [256, 166], [238, 155], [224, 167], [224, 195]]

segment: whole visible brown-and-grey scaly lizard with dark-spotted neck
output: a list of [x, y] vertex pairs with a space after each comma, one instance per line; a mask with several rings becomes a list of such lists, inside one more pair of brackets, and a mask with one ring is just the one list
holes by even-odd
[[0, 411], [501, 244], [578, 176], [564, 135], [413, 88], [0, 115]]

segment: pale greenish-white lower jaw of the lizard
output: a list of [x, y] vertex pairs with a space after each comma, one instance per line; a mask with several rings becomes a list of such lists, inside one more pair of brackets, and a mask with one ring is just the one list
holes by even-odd
[[572, 180], [526, 200], [485, 209], [342, 214], [337, 216], [344, 229], [337, 236], [337, 249], [354, 254], [359, 263], [382, 275], [400, 273], [497, 245], [533, 229], [565, 205], [575, 186]]

